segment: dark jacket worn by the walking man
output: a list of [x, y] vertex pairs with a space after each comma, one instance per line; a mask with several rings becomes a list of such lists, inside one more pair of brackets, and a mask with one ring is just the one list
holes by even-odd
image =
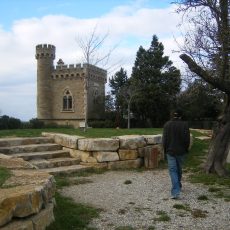
[[178, 118], [166, 122], [163, 130], [164, 152], [170, 155], [184, 155], [188, 152], [190, 132], [188, 123]]

